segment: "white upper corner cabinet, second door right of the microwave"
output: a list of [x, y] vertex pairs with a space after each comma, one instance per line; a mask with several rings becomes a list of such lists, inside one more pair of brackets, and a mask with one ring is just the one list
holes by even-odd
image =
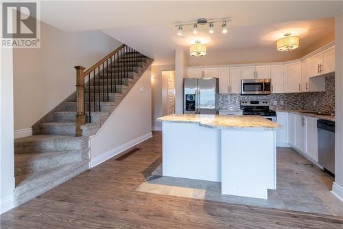
[[283, 65], [283, 89], [285, 93], [301, 91], [301, 63]]

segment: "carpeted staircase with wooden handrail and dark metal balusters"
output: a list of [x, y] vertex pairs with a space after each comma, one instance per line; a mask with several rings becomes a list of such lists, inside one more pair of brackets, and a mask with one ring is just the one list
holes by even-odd
[[121, 45], [85, 72], [75, 67], [77, 90], [34, 124], [34, 135], [14, 140], [15, 206], [88, 170], [88, 137], [152, 61]]

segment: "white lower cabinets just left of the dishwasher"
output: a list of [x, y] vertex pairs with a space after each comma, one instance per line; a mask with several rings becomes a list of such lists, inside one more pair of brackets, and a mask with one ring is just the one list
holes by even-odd
[[318, 162], [317, 118], [288, 113], [288, 140], [292, 148]]

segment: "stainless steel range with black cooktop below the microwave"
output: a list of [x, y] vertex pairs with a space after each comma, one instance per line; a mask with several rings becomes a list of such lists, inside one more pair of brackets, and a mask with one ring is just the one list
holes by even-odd
[[262, 116], [276, 122], [276, 112], [269, 109], [267, 100], [241, 100], [244, 116]]

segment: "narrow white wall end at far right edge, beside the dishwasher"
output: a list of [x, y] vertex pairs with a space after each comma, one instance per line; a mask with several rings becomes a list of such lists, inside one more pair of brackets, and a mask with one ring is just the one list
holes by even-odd
[[343, 14], [335, 18], [335, 182], [333, 193], [343, 201]]

